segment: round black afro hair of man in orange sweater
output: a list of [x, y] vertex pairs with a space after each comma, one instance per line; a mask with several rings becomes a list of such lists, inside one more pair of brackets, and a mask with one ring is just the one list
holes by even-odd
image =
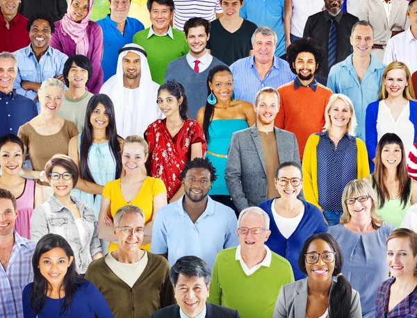
[[322, 64], [322, 61], [325, 59], [325, 54], [323, 53], [320, 44], [317, 40], [314, 40], [313, 37], [302, 37], [300, 40], [294, 41], [291, 43], [287, 48], [287, 61], [290, 65], [291, 72], [297, 74], [295, 72], [295, 67], [293, 67], [293, 63], [297, 60], [298, 54], [301, 52], [309, 52], [313, 54], [314, 59], [316, 60], [316, 65], [318, 65], [318, 69]]

